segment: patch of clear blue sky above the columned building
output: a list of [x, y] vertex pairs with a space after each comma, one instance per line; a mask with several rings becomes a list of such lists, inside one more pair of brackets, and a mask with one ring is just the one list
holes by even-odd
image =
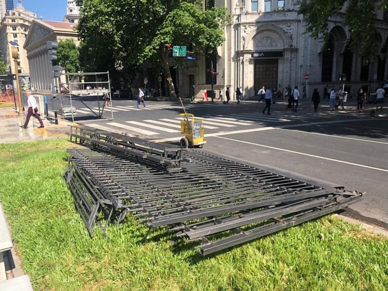
[[[14, 0], [14, 7], [18, 0]], [[67, 0], [22, 0], [24, 9], [36, 13], [43, 20], [63, 21], [66, 15]]]

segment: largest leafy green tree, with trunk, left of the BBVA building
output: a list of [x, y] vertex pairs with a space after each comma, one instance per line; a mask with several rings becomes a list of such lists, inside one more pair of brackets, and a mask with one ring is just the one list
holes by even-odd
[[[159, 63], [172, 96], [167, 44], [210, 54], [224, 41], [223, 28], [230, 19], [225, 8], [203, 11], [202, 0], [77, 0], [77, 4], [79, 37], [91, 53], [88, 58], [96, 64], [109, 61], [109, 68], [118, 72], [136, 70], [146, 60]], [[105, 60], [98, 60], [103, 56]]]

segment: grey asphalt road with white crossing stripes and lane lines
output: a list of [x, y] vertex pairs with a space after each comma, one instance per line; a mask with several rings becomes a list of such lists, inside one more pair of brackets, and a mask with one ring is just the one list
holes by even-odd
[[[113, 120], [95, 118], [96, 100], [75, 98], [72, 103], [78, 111], [75, 121], [92, 127], [174, 143], [182, 136], [179, 103], [146, 100], [146, 108], [135, 109], [133, 100], [113, 100]], [[264, 105], [257, 102], [185, 105], [187, 112], [204, 119], [204, 151], [361, 191], [364, 200], [352, 205], [349, 215], [388, 228], [388, 109], [371, 116], [374, 106], [366, 105], [360, 114], [350, 102], [345, 111], [330, 112], [323, 101], [314, 113], [309, 101], [301, 101], [298, 113], [277, 103], [272, 115], [263, 115]], [[111, 117], [112, 112], [105, 108], [103, 115]]]

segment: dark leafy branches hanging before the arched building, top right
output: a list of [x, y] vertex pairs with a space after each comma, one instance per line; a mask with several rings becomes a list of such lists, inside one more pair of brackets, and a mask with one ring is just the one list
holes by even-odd
[[312, 37], [323, 35], [327, 41], [330, 15], [345, 9], [343, 24], [349, 27], [350, 47], [368, 60], [378, 39], [376, 8], [386, 9], [387, 6], [388, 0], [303, 0], [299, 14], [306, 18], [307, 32]]

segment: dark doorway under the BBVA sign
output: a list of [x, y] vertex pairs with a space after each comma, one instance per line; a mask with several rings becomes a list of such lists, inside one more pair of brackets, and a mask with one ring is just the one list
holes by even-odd
[[278, 59], [255, 59], [255, 94], [262, 87], [277, 89]]

